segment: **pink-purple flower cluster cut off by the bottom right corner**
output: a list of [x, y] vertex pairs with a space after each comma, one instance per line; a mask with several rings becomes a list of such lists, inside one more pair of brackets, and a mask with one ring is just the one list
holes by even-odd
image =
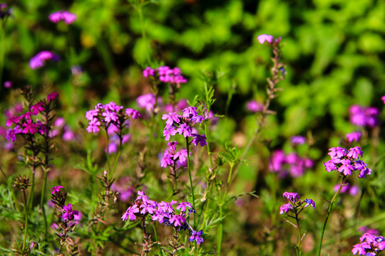
[[378, 252], [385, 249], [385, 238], [381, 235], [376, 236], [364, 233], [359, 240], [361, 243], [354, 245], [351, 250], [354, 255], [358, 253], [359, 255], [375, 256]]

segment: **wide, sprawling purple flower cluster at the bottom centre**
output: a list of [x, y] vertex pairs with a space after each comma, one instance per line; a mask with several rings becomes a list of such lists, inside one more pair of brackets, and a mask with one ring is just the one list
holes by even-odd
[[145, 218], [147, 215], [150, 215], [151, 220], [158, 221], [158, 223], [163, 223], [166, 226], [172, 225], [178, 229], [178, 231], [190, 230], [190, 242], [195, 240], [199, 245], [203, 242], [203, 238], [201, 238], [203, 231], [200, 230], [197, 232], [188, 224], [187, 218], [191, 213], [195, 213], [191, 203], [178, 203], [174, 200], [170, 203], [164, 201], [158, 203], [150, 200], [148, 196], [145, 196], [143, 191], [138, 191], [138, 197], [135, 199], [135, 203], [133, 203], [133, 206], [127, 208], [121, 219], [123, 221], [127, 219], [136, 220], [137, 217]]

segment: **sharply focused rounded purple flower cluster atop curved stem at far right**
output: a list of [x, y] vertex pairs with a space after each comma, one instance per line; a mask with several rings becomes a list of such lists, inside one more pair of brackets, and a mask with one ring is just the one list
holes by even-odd
[[364, 161], [359, 160], [362, 157], [362, 151], [359, 146], [354, 146], [349, 150], [342, 147], [329, 149], [331, 160], [324, 163], [327, 171], [339, 171], [340, 174], [351, 175], [352, 171], [359, 171], [359, 178], [365, 178], [366, 174], [371, 174], [371, 169], [366, 167]]

